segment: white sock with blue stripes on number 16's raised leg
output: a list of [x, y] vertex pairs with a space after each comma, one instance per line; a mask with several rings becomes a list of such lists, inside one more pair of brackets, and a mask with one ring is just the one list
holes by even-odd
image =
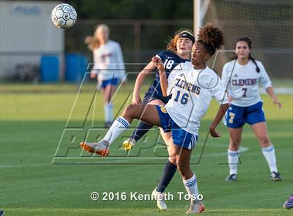
[[104, 140], [110, 142], [110, 144], [112, 144], [112, 142], [119, 137], [119, 135], [127, 130], [127, 128], [129, 128], [129, 123], [128, 121], [123, 118], [123, 117], [119, 117], [117, 118], [114, 123], [112, 123], [110, 129], [108, 130], [107, 134], [105, 135], [105, 137], [103, 138]]

